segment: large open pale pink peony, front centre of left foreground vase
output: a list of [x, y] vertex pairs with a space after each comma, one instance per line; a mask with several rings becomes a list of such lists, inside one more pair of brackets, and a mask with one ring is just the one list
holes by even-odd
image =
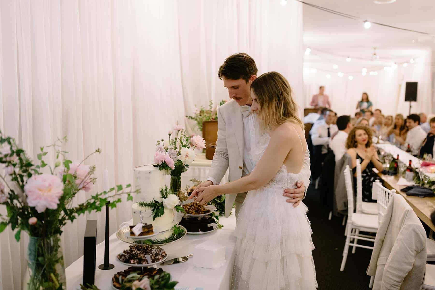
[[27, 203], [35, 207], [38, 213], [47, 208], [55, 210], [62, 196], [64, 183], [59, 177], [51, 174], [33, 175], [27, 180], [24, 192], [27, 195]]

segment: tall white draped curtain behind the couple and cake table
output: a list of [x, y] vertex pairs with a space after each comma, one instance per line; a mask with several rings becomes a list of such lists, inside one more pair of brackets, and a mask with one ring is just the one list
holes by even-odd
[[[174, 123], [193, 132], [184, 116], [194, 104], [228, 99], [217, 72], [232, 53], [250, 54], [259, 73], [281, 72], [301, 102], [301, 12], [274, 0], [0, 0], [0, 129], [34, 160], [57, 137], [68, 137], [72, 160], [100, 147], [86, 162], [98, 180], [77, 195], [82, 203], [102, 190], [105, 168], [111, 186], [133, 183]], [[131, 204], [110, 210], [110, 234], [131, 219]], [[86, 220], [98, 220], [104, 239], [104, 216], [64, 227], [65, 266], [83, 254]], [[0, 290], [20, 289], [27, 242], [10, 228], [0, 234]]]

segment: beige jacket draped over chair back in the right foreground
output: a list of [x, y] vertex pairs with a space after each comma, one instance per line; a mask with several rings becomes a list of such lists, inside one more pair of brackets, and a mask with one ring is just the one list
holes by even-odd
[[426, 265], [426, 233], [400, 194], [394, 194], [382, 218], [367, 274], [373, 290], [422, 289]]

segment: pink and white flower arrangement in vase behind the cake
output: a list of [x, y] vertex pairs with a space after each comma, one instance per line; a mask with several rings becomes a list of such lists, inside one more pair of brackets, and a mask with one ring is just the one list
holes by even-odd
[[169, 130], [167, 140], [157, 140], [153, 165], [171, 175], [171, 190], [176, 194], [181, 190], [181, 173], [195, 161], [195, 148], [204, 149], [205, 140], [201, 136], [187, 136], [178, 124]]

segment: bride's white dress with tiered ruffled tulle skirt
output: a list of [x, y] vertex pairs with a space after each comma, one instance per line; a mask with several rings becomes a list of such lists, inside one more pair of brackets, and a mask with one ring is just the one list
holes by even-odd
[[[270, 137], [254, 137], [251, 155], [258, 162]], [[303, 159], [303, 154], [301, 156]], [[254, 169], [255, 170], [255, 169]], [[250, 191], [238, 215], [231, 289], [311, 290], [317, 287], [311, 227], [304, 203], [293, 207], [283, 191], [296, 188], [301, 173], [283, 165], [272, 180]]]

